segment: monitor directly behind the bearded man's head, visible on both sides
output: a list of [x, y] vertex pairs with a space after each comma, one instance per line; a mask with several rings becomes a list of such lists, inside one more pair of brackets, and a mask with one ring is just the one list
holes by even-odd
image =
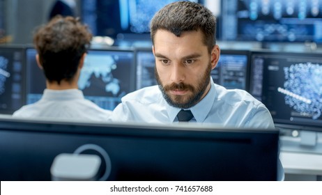
[[[221, 49], [220, 59], [211, 77], [215, 84], [226, 88], [248, 89], [250, 52], [246, 50]], [[151, 47], [136, 48], [137, 89], [157, 84], [155, 80], [155, 58]]]

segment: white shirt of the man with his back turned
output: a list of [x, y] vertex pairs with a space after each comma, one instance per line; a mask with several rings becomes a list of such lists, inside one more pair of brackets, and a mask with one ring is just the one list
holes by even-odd
[[112, 111], [102, 109], [84, 98], [79, 89], [45, 89], [43, 97], [13, 113], [24, 118], [61, 118], [73, 120], [107, 121]]

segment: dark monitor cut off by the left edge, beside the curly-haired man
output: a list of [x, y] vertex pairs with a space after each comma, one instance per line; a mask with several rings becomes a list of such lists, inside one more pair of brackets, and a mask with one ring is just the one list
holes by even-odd
[[24, 47], [0, 45], [0, 113], [13, 114], [24, 105]]

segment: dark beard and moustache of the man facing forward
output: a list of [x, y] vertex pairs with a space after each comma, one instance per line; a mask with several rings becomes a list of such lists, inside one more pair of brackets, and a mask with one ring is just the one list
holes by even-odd
[[[208, 68], [206, 72], [204, 72], [204, 75], [199, 80], [199, 83], [197, 86], [192, 86], [190, 84], [168, 84], [166, 86], [162, 85], [162, 82], [160, 81], [160, 77], [158, 75], [158, 70], [155, 67], [155, 79], [158, 82], [160, 91], [162, 92], [163, 98], [170, 104], [172, 107], [177, 107], [180, 109], [188, 109], [190, 107], [193, 107], [195, 104], [197, 104], [202, 95], [204, 95], [206, 88], [210, 81], [210, 72], [211, 72], [211, 63], [209, 62]], [[169, 95], [169, 91], [172, 90], [187, 90], [191, 91], [192, 95], [189, 95], [186, 97], [186, 95], [172, 95], [173, 98]]]

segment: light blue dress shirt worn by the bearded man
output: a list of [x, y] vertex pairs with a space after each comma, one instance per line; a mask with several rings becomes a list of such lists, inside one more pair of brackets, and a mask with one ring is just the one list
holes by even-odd
[[[216, 123], [224, 127], [274, 128], [273, 118], [264, 104], [239, 89], [228, 90], [213, 83], [208, 94], [190, 110], [190, 122]], [[171, 107], [158, 86], [142, 88], [122, 98], [112, 121], [174, 123], [181, 109]]]

